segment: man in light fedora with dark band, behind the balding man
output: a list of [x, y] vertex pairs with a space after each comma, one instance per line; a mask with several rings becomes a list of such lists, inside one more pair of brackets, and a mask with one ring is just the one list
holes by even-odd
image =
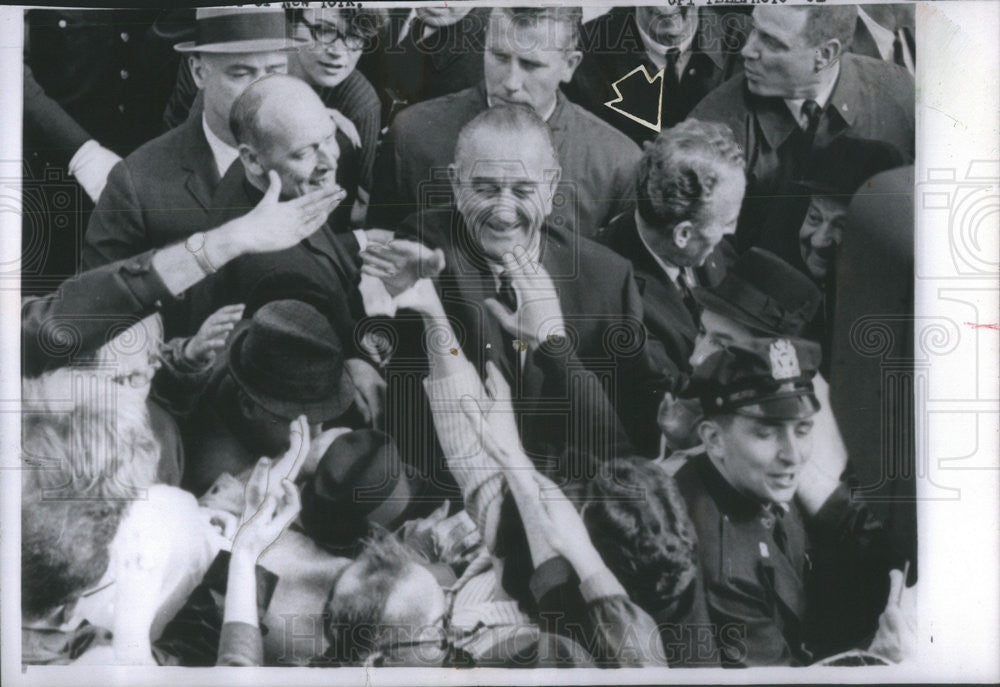
[[208, 229], [212, 194], [239, 157], [229, 109], [267, 74], [288, 71], [285, 15], [269, 8], [207, 8], [196, 40], [175, 46], [191, 55], [204, 112], [146, 143], [115, 166], [87, 227], [87, 269], [160, 248]]

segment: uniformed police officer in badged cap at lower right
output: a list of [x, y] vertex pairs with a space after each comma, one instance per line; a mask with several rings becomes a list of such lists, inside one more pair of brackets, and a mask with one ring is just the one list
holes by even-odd
[[725, 666], [801, 665], [868, 646], [888, 571], [902, 567], [881, 524], [838, 480], [797, 493], [822, 450], [812, 436], [819, 360], [812, 342], [753, 339], [694, 371], [704, 453], [676, 480]]

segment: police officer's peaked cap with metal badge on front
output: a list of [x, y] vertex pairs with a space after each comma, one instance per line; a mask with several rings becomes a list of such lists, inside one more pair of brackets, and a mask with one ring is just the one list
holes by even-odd
[[706, 417], [806, 418], [820, 407], [812, 385], [820, 356], [819, 345], [803, 339], [732, 345], [695, 368], [685, 395], [699, 400]]

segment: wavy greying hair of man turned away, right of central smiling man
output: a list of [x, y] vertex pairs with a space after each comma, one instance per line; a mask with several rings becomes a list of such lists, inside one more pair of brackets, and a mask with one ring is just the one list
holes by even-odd
[[688, 119], [647, 143], [639, 161], [637, 205], [656, 227], [696, 221], [723, 168], [743, 171], [743, 150], [725, 124]]

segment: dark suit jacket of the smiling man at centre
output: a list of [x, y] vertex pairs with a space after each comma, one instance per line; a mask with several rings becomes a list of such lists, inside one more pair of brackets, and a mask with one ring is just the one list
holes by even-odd
[[[459, 325], [469, 360], [481, 371], [493, 360], [513, 379], [506, 355], [511, 339], [483, 305], [496, 293], [494, 277], [470, 253], [463, 238], [466, 231], [461, 215], [453, 210], [425, 210], [400, 229], [444, 250], [447, 266], [437, 284], [445, 310]], [[642, 301], [631, 265], [588, 239], [549, 226], [543, 229], [540, 257], [559, 292], [575, 359], [602, 380], [633, 444], [655, 452], [655, 416], [665, 380], [646, 349]], [[553, 388], [550, 377], [528, 356], [520, 379], [512, 384], [515, 398], [526, 404], [522, 407], [532, 409], [522, 414], [521, 433], [528, 443], [533, 435], [551, 436], [552, 428], [546, 425], [571, 426], [569, 392]], [[551, 459], [551, 453], [547, 457]]]

